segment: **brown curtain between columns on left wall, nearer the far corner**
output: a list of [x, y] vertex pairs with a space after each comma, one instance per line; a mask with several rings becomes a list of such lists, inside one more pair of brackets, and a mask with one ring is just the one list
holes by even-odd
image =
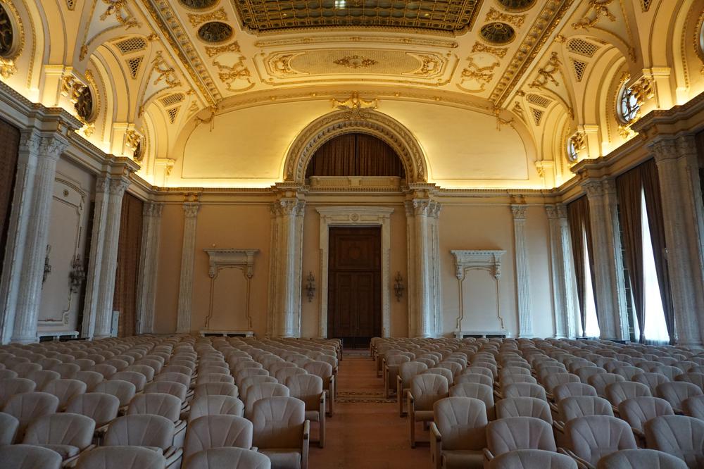
[[118, 337], [136, 333], [137, 281], [142, 253], [142, 211], [144, 203], [131, 194], [122, 198], [118, 270], [115, 275], [113, 309], [120, 311]]

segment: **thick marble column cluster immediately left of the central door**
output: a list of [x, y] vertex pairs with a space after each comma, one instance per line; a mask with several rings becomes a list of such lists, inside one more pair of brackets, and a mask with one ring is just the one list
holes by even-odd
[[268, 333], [273, 337], [301, 336], [301, 268], [303, 218], [306, 202], [284, 197], [271, 206], [272, 258]]

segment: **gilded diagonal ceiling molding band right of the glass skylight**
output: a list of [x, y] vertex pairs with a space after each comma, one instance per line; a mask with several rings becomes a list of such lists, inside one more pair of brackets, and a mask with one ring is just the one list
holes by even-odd
[[496, 106], [503, 106], [513, 89], [518, 85], [531, 63], [548, 41], [555, 27], [574, 0], [546, 0], [536, 22], [530, 27], [525, 39], [498, 80], [489, 99]]

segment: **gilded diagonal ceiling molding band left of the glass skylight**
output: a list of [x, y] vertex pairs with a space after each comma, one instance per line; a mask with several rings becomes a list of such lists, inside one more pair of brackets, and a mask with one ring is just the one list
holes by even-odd
[[[180, 63], [186, 69], [191, 79], [196, 84], [210, 106], [222, 99], [222, 94], [215, 85], [215, 80], [208, 73], [208, 67], [201, 61], [200, 55], [194, 44], [186, 39], [189, 34], [181, 23], [171, 6], [166, 0], [142, 0], [144, 8], [149, 12], [151, 18], [158, 25], [162, 35], [167, 39], [169, 45], [175, 51]], [[166, 20], [165, 18], [168, 18]]]

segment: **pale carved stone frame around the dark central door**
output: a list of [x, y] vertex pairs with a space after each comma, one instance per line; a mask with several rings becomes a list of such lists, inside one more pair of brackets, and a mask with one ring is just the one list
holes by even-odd
[[320, 213], [320, 311], [319, 335], [327, 337], [327, 284], [329, 277], [329, 227], [382, 227], [382, 337], [391, 325], [391, 213], [394, 208], [367, 206], [317, 207]]

